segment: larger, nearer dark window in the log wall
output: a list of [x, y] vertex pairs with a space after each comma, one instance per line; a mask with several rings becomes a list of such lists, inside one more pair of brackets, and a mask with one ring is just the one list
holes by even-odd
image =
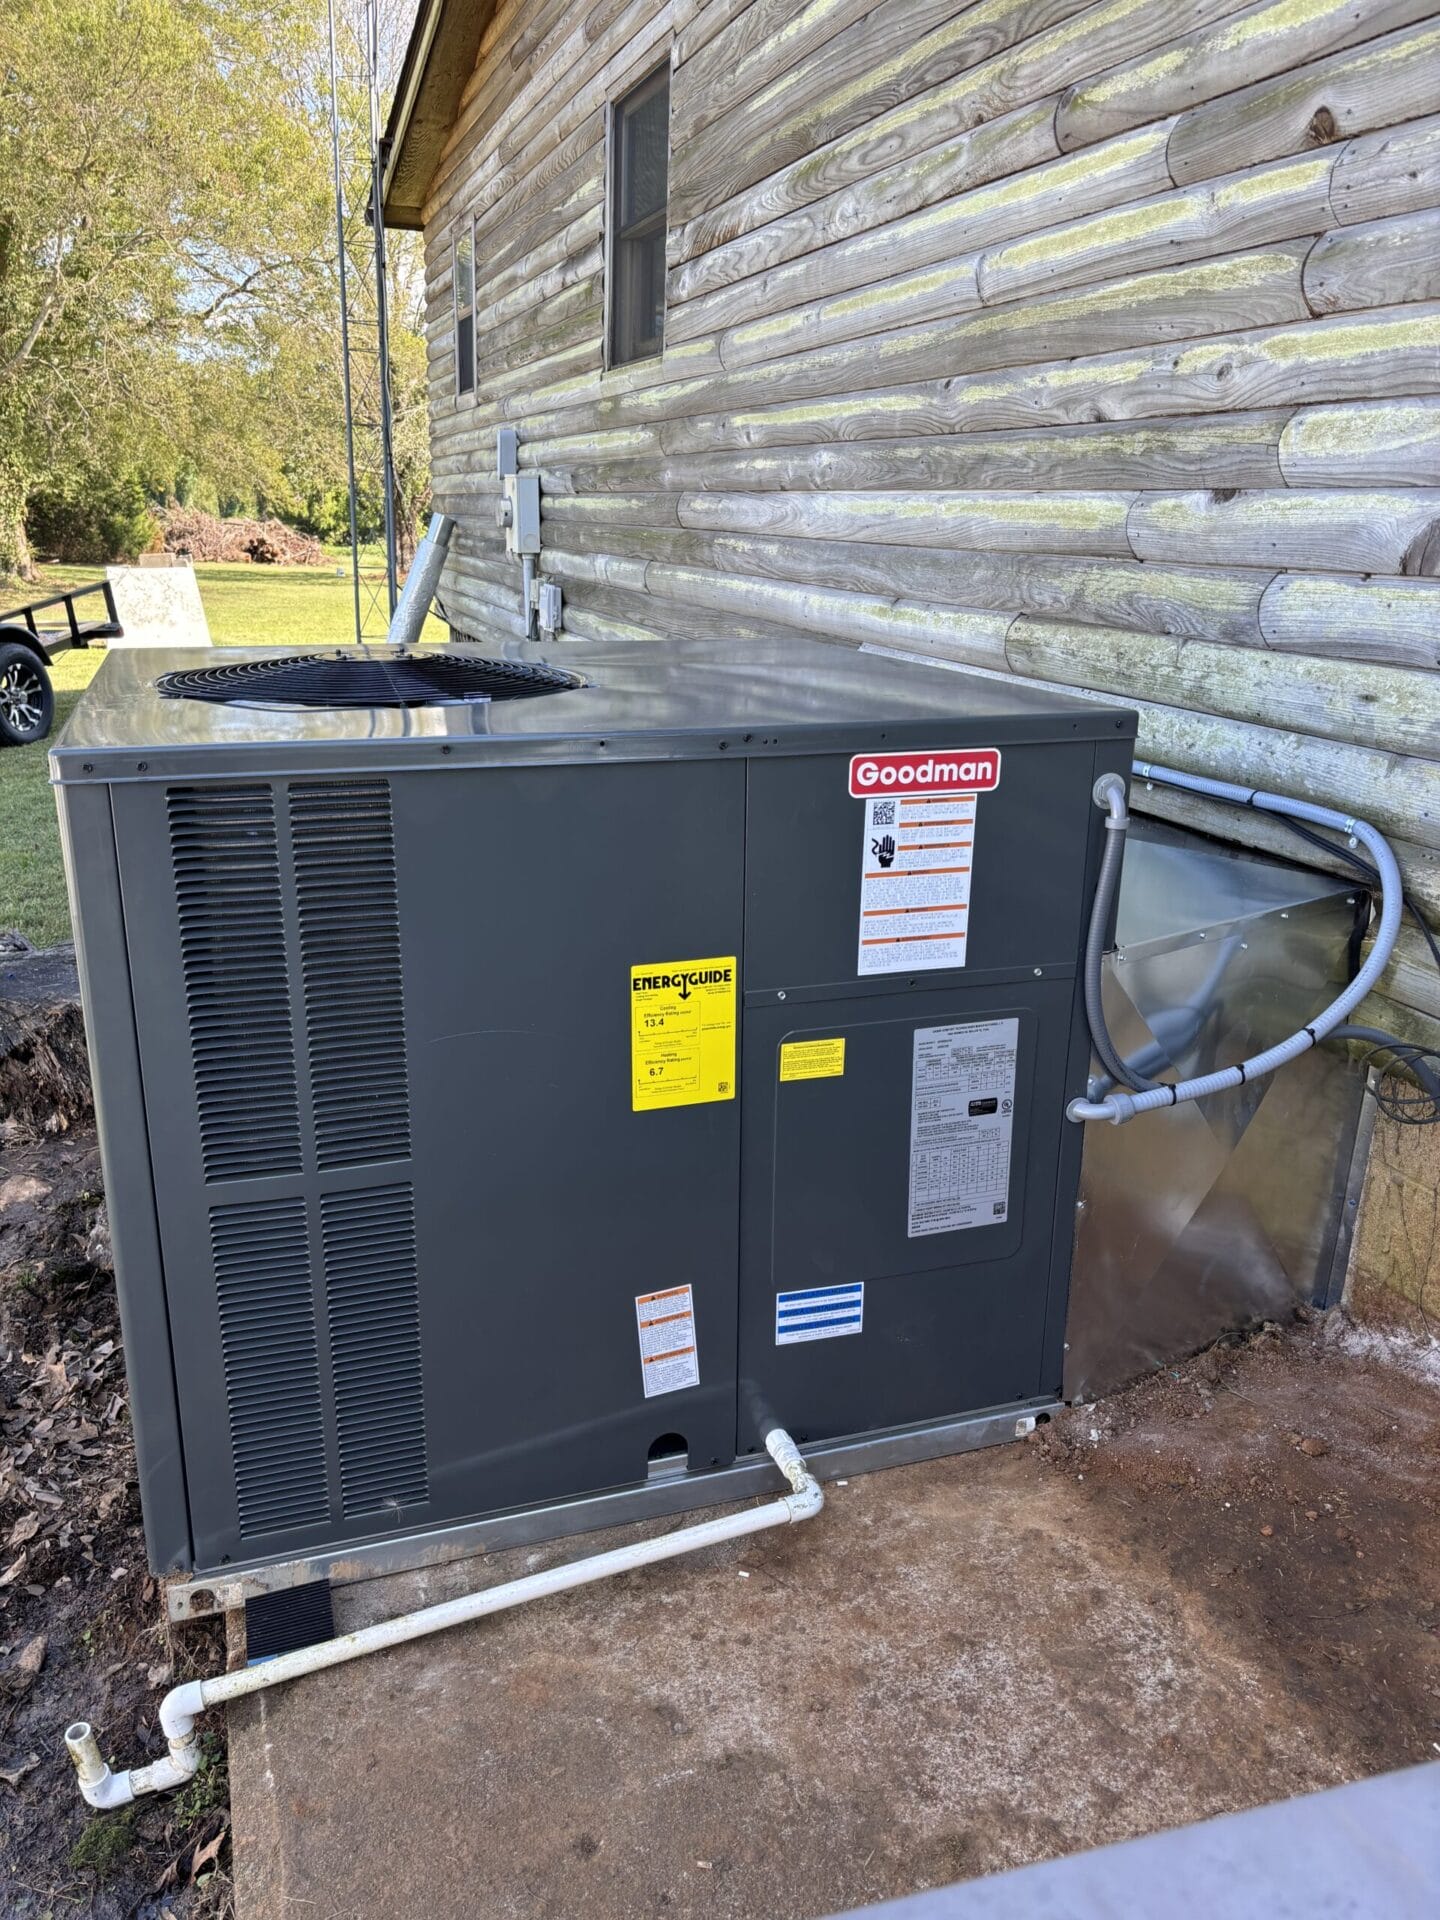
[[664, 209], [670, 192], [670, 67], [611, 117], [611, 367], [664, 346]]

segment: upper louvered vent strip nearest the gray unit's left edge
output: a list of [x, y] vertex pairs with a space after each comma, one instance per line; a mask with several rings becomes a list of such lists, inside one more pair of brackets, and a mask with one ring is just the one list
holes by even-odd
[[207, 1181], [300, 1167], [296, 1050], [269, 787], [167, 793]]

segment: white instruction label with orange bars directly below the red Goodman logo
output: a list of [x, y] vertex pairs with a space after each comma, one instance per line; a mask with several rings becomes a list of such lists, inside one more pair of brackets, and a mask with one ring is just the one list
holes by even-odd
[[964, 966], [973, 862], [973, 793], [868, 799], [856, 972]]

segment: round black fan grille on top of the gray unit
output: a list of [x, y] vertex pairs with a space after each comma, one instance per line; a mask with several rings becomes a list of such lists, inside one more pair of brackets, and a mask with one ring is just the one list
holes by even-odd
[[278, 660], [225, 660], [161, 674], [167, 701], [236, 707], [463, 707], [580, 687], [580, 674], [540, 660], [465, 653], [292, 653]]

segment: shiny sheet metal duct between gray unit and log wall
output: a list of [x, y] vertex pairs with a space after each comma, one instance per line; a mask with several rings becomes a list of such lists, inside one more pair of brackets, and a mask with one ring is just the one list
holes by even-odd
[[[1334, 996], [1356, 887], [1137, 824], [1106, 1020], [1181, 1079], [1271, 1046]], [[1348, 1244], [1365, 1075], [1340, 1050], [1129, 1127], [1091, 1127], [1066, 1398], [1091, 1400], [1221, 1332], [1329, 1304]]]

